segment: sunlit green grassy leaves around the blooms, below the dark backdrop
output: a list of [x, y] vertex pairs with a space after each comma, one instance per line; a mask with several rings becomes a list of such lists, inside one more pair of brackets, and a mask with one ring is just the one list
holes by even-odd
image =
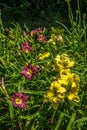
[[[11, 1], [10, 4], [13, 4], [12, 2], [16, 7], [15, 1]], [[30, 3], [28, 5], [21, 1], [21, 4], [18, 3], [18, 9], [31, 6], [32, 2], [28, 2]], [[56, 2], [61, 4], [60, 0]], [[55, 3], [51, 1], [52, 8], [55, 7]], [[4, 28], [0, 18], [0, 130], [87, 129], [87, 25], [86, 15], [81, 16], [78, 0], [77, 4], [74, 16], [68, 3], [69, 29], [59, 21], [56, 21], [59, 25], [57, 28], [52, 27], [50, 30], [42, 28], [40, 35], [46, 36], [46, 41], [43, 37], [38, 40], [38, 33], [35, 35], [31, 33], [37, 30], [30, 30], [26, 26], [22, 29], [19, 24], [14, 24], [13, 28]], [[23, 42], [30, 44], [33, 53], [23, 51]], [[50, 56], [46, 59], [44, 56], [43, 60], [40, 60], [39, 54], [44, 55], [46, 52], [49, 52]], [[59, 78], [59, 71], [55, 71], [53, 66], [57, 54], [67, 54], [75, 62], [71, 71], [80, 77], [78, 93], [80, 102], [65, 99], [54, 110], [50, 102], [45, 103], [43, 100], [51, 82]], [[23, 66], [28, 63], [38, 68], [37, 75], [31, 80], [20, 74]], [[13, 105], [11, 97], [15, 92], [29, 96], [26, 109]]]

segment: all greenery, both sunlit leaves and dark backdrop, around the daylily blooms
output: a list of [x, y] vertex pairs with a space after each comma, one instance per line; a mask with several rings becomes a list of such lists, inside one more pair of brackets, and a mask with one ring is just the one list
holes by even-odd
[[[65, 1], [0, 1], [0, 130], [87, 130], [87, 1]], [[37, 27], [45, 43], [32, 35]], [[23, 42], [33, 47], [32, 54], [22, 50]], [[50, 57], [40, 61], [38, 55], [46, 51]], [[71, 72], [80, 77], [80, 102], [65, 99], [54, 110], [43, 97], [59, 76], [51, 68], [54, 58], [63, 53], [75, 63]], [[32, 80], [20, 75], [28, 62], [38, 67]], [[10, 97], [17, 91], [29, 96], [26, 109], [13, 106]]]

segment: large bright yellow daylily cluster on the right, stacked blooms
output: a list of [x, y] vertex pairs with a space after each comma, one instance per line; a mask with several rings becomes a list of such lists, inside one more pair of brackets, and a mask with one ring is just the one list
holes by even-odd
[[63, 103], [66, 98], [79, 102], [80, 78], [70, 70], [74, 61], [70, 60], [66, 54], [57, 55], [55, 65], [59, 70], [59, 78], [51, 83], [49, 90], [44, 95], [44, 102], [50, 102], [54, 109], [57, 109], [59, 103]]

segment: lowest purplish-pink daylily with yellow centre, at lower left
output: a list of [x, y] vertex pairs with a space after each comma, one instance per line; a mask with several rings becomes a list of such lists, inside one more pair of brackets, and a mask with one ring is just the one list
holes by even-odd
[[26, 108], [26, 101], [28, 100], [29, 96], [25, 95], [21, 92], [15, 92], [14, 95], [11, 97], [11, 101], [14, 107], [20, 107], [22, 109]]

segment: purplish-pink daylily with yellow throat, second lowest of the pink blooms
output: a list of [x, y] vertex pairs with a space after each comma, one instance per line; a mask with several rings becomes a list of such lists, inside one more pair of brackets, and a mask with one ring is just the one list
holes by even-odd
[[36, 72], [37, 67], [29, 63], [28, 66], [24, 66], [23, 70], [20, 73], [24, 75], [28, 80], [30, 80], [32, 77], [36, 75]]

